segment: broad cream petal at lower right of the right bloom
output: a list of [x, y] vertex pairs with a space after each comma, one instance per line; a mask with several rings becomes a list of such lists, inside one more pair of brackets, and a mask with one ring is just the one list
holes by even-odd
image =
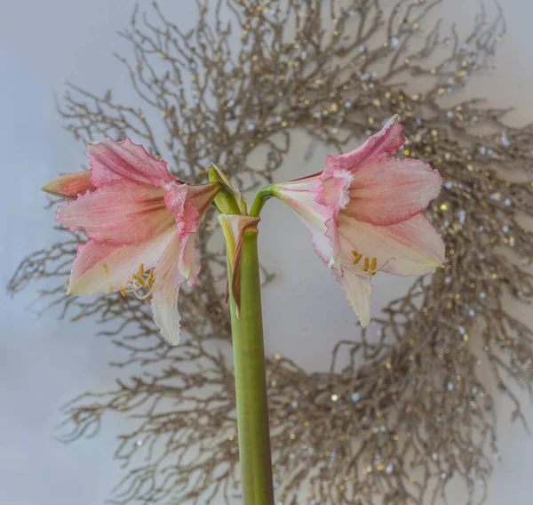
[[[422, 213], [390, 226], [373, 226], [341, 214], [339, 233], [345, 265], [352, 263], [356, 251], [363, 258], [376, 258], [378, 270], [418, 276], [444, 261], [442, 237]], [[361, 265], [362, 261], [357, 266]]]

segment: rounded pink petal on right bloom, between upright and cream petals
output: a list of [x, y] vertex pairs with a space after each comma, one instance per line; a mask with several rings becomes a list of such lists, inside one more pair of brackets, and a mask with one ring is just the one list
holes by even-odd
[[439, 172], [417, 159], [375, 158], [353, 174], [350, 203], [342, 212], [378, 226], [410, 219], [441, 191]]

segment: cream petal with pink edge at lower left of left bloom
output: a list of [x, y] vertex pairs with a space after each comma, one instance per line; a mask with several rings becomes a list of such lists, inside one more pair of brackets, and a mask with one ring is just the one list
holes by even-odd
[[103, 244], [89, 240], [78, 245], [78, 254], [70, 273], [68, 294], [114, 293], [125, 288], [140, 263], [151, 269], [159, 260], [171, 232], [135, 245]]

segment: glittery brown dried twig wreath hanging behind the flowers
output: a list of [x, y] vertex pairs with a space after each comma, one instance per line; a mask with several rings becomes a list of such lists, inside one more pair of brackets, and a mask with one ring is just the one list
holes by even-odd
[[[277, 496], [283, 503], [433, 503], [456, 476], [473, 496], [496, 451], [495, 412], [477, 366], [489, 365], [514, 417], [522, 416], [510, 382], [531, 392], [533, 332], [502, 296], [533, 301], [533, 236], [521, 226], [521, 216], [533, 215], [533, 126], [506, 127], [505, 110], [479, 100], [445, 108], [441, 99], [485, 67], [505, 32], [501, 12], [493, 20], [481, 12], [460, 39], [453, 28], [441, 36], [440, 23], [422, 36], [438, 1], [399, 1], [386, 12], [378, 0], [196, 4], [198, 21], [187, 33], [157, 5], [149, 16], [135, 11], [121, 32], [134, 57], [120, 60], [139, 103], [70, 86], [60, 106], [68, 130], [84, 141], [129, 135], [191, 182], [205, 180], [212, 161], [246, 189], [271, 180], [297, 129], [340, 151], [399, 114], [409, 139], [403, 156], [426, 160], [445, 178], [429, 215], [446, 240], [446, 268], [386, 307], [373, 323], [377, 342], [364, 331], [339, 341], [330, 373], [268, 360]], [[424, 91], [403, 84], [408, 76], [425, 77]], [[164, 139], [153, 133], [157, 121]], [[259, 147], [267, 163], [252, 166]], [[115, 453], [128, 472], [114, 503], [212, 503], [216, 495], [230, 502], [237, 493], [230, 329], [219, 279], [225, 259], [209, 215], [206, 222], [197, 239], [205, 259], [199, 285], [180, 295], [190, 338], [178, 348], [160, 340], [138, 300], [64, 295], [81, 237], [31, 254], [12, 278], [12, 292], [57, 279], [44, 292], [52, 304], [75, 320], [115, 322], [105, 333], [124, 350], [119, 367], [145, 370], [65, 408], [66, 440], [94, 435], [109, 411], [137, 414]], [[350, 365], [338, 369], [339, 355]], [[364, 365], [355, 366], [356, 356]]]

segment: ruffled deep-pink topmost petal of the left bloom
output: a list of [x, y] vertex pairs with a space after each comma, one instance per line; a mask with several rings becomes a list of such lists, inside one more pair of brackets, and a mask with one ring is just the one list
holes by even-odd
[[117, 179], [135, 180], [162, 187], [175, 180], [163, 160], [151, 156], [145, 148], [130, 139], [121, 142], [105, 139], [87, 147], [91, 160], [91, 180], [101, 188]]

